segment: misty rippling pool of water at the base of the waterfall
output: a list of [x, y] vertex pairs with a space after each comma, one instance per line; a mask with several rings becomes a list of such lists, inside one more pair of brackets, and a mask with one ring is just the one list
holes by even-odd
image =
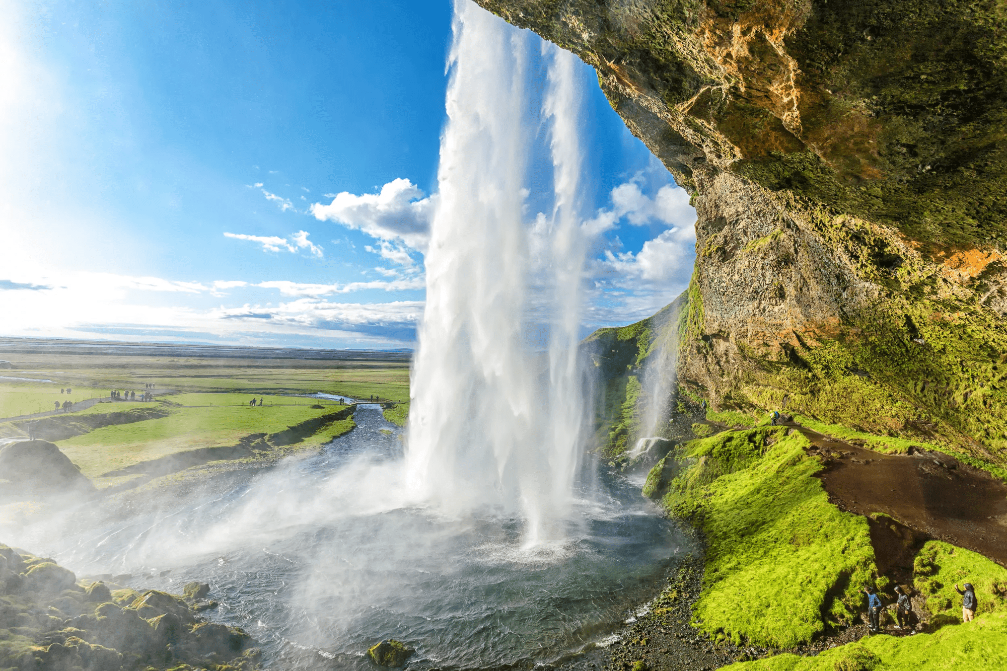
[[388, 638], [416, 649], [415, 669], [554, 661], [616, 631], [691, 549], [638, 483], [605, 472], [580, 488], [565, 539], [533, 548], [499, 511], [409, 505], [399, 429], [379, 406], [356, 422], [319, 453], [76, 511], [25, 548], [136, 588], [208, 582], [205, 615], [244, 628], [267, 667], [322, 669], [366, 668]]

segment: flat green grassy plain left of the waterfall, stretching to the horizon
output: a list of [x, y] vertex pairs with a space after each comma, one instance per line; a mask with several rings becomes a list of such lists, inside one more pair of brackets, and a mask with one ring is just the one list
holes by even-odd
[[[152, 402], [106, 401], [34, 420], [36, 434], [50, 424], [56, 436], [50, 439], [104, 489], [136, 479], [149, 463], [157, 464], [151, 473], [163, 475], [175, 456], [181, 468], [199, 458], [248, 458], [250, 451], [282, 455], [323, 444], [355, 425], [341, 412], [345, 406], [307, 394], [409, 400], [408, 355], [205, 348], [190, 356], [193, 352], [121, 344], [40, 348], [0, 339], [0, 357], [15, 366], [0, 374], [53, 381], [0, 380], [0, 417], [13, 415], [0, 423], [0, 437], [26, 432], [26, 423], [16, 419], [19, 411], [51, 410], [53, 400], [107, 398], [112, 389], [140, 394], [153, 384]], [[73, 387], [74, 394], [59, 394], [60, 387]], [[263, 405], [250, 406], [253, 397]], [[3, 414], [7, 409], [12, 412]], [[408, 404], [397, 406], [390, 419], [401, 425], [407, 412]]]

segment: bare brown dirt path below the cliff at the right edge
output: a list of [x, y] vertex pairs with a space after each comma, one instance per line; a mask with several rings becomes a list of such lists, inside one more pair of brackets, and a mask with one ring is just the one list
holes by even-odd
[[[871, 524], [878, 569], [911, 568], [912, 548], [928, 539], [979, 552], [1007, 566], [1007, 485], [940, 452], [882, 454], [832, 438], [793, 422], [820, 455], [818, 474], [832, 503], [869, 516], [884, 513], [898, 522]], [[870, 519], [870, 518], [869, 518]], [[906, 566], [906, 561], [908, 566]]]

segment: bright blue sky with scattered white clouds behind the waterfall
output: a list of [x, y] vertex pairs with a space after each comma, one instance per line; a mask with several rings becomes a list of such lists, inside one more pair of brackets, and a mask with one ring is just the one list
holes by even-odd
[[[411, 347], [450, 38], [447, 0], [0, 4], [0, 334]], [[694, 215], [581, 75], [589, 329], [684, 288]]]

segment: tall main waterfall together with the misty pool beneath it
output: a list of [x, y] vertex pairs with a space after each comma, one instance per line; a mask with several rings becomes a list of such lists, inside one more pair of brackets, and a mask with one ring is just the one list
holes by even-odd
[[[661, 588], [691, 548], [641, 483], [578, 459], [578, 65], [471, 3], [455, 31], [408, 445], [362, 405], [318, 453], [222, 463], [9, 542], [136, 588], [207, 581], [221, 606], [206, 615], [273, 668], [372, 668], [365, 651], [395, 638], [414, 669], [531, 669]], [[538, 101], [524, 83], [543, 70]], [[543, 129], [551, 171], [530, 176]], [[530, 183], [549, 185], [548, 214], [529, 215]]]

